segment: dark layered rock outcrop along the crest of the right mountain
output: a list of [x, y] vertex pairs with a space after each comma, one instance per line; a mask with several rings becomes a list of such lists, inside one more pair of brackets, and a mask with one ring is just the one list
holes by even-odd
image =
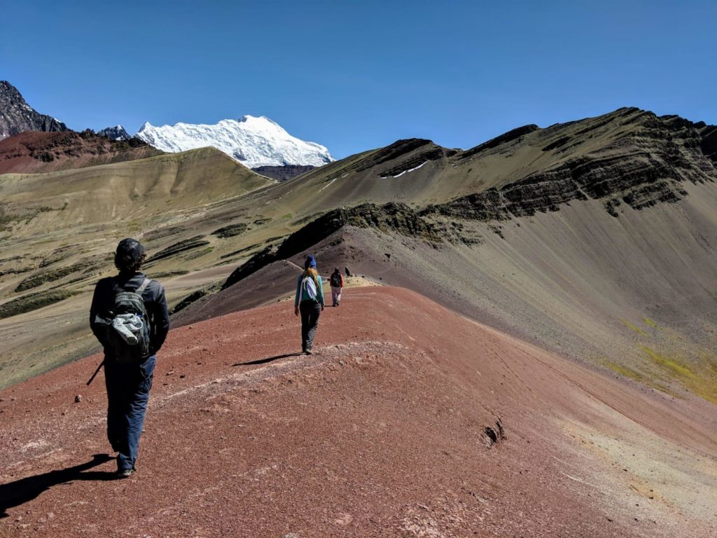
[[608, 116], [607, 120], [559, 136], [543, 147], [543, 151], [554, 151], [581, 143], [581, 137], [592, 136], [591, 131], [618, 123], [623, 131], [594, 151], [566, 159], [553, 169], [535, 172], [500, 189], [429, 206], [423, 214], [505, 220], [557, 211], [561, 204], [572, 200], [599, 199], [607, 212], [617, 217], [616, 208], [622, 204], [644, 209], [658, 203], [678, 202], [686, 194], [682, 186], [685, 181], [717, 180], [714, 126], [673, 115], [657, 117], [635, 108], [621, 109]]

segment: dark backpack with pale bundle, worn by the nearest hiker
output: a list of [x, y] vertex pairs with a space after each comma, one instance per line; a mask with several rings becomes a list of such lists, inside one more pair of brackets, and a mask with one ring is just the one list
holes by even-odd
[[108, 340], [118, 362], [136, 362], [149, 357], [149, 316], [142, 293], [150, 282], [145, 278], [135, 291], [125, 291], [115, 280], [115, 304]]

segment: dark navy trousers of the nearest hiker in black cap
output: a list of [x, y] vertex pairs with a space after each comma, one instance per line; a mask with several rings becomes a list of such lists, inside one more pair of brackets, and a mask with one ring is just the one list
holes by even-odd
[[120, 471], [133, 468], [137, 461], [155, 364], [154, 355], [140, 362], [105, 359], [107, 438], [112, 449], [118, 452]]

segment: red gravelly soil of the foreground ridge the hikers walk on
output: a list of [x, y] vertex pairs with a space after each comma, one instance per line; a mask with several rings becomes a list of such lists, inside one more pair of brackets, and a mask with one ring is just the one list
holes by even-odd
[[713, 424], [665, 398], [400, 288], [348, 290], [323, 313], [318, 353], [277, 357], [300, 345], [292, 306], [171, 332], [127, 480], [103, 480], [114, 461], [53, 473], [109, 450], [102, 374], [85, 387], [99, 357], [1, 392], [0, 536], [717, 532], [713, 513], [671, 494], [676, 478], [606, 456], [654, 439], [645, 466], [669, 459], [685, 487], [714, 495], [690, 468], [715, 465]]

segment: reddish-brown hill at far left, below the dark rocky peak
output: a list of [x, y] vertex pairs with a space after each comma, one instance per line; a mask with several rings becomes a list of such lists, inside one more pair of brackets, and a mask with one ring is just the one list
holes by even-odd
[[113, 141], [85, 131], [25, 132], [0, 141], [0, 174], [39, 174], [161, 155], [138, 138]]

